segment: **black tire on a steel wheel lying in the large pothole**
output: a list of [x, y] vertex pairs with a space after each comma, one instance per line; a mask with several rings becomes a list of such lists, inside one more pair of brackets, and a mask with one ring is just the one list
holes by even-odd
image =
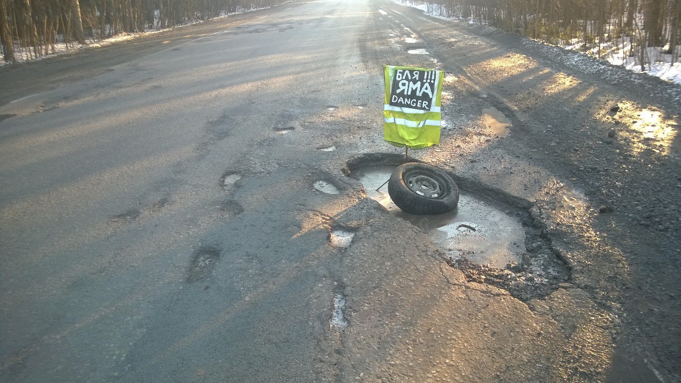
[[444, 214], [459, 203], [459, 188], [452, 177], [422, 163], [405, 163], [395, 169], [387, 182], [387, 193], [409, 214]]

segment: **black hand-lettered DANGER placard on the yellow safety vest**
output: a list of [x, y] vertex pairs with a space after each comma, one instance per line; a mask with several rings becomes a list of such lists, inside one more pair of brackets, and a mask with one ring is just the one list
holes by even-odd
[[390, 87], [390, 105], [430, 110], [437, 71], [397, 69]]

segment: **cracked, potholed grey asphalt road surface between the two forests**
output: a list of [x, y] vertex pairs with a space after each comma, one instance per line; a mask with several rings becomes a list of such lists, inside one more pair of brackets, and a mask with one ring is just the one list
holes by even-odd
[[[552, 293], [450, 267], [348, 176], [401, 152], [382, 141], [388, 63], [447, 72], [441, 146], [412, 155], [522, 210], [528, 252], [569, 271]], [[0, 84], [0, 381], [681, 381], [678, 86], [358, 0]]]

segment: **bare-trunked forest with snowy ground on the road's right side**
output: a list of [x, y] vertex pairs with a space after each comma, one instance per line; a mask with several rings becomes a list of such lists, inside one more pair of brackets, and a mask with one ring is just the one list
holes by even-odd
[[429, 8], [430, 14], [468, 19], [599, 59], [635, 58], [642, 71], [665, 59], [678, 62], [681, 0], [434, 0]]

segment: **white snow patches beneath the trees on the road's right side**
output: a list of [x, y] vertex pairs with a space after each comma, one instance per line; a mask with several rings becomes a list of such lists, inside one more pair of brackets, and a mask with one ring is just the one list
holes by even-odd
[[[446, 16], [447, 11], [443, 5], [428, 4], [413, 0], [392, 0], [392, 1], [405, 7], [413, 7], [416, 8], [417, 10], [422, 10], [422, 12], [429, 14], [430, 16], [434, 16], [444, 20], [460, 20], [459, 18], [455, 17], [447, 17]], [[466, 21], [469, 22], [470, 24], [477, 23], [473, 18], [470, 18], [469, 20]], [[545, 46], [551, 46], [550, 44], [545, 44], [541, 41], [536, 42], [538, 44], [543, 44]], [[596, 46], [595, 48], [589, 48], [585, 50], [582, 44], [579, 44], [577, 41], [569, 41], [568, 44], [560, 44], [558, 47], [566, 50], [575, 50], [577, 52], [580, 52], [585, 56], [585, 59], [586, 56], [597, 57], [599, 52], [599, 47]], [[609, 44], [603, 44], [603, 46], [601, 46], [600, 48], [601, 52], [603, 52], [603, 50], [606, 51], [606, 53], [601, 56], [601, 59], [603, 61], [607, 61], [612, 65], [622, 66], [634, 72], [642, 71], [639, 57], [629, 56], [631, 44], [629, 43], [629, 41], [627, 41], [627, 38], [613, 39], [612, 42], [610, 42]], [[663, 49], [667, 48], [669, 47], [665, 47]], [[647, 73], [650, 76], [661, 78], [663, 80], [675, 82], [676, 84], [681, 84], [681, 63], [674, 63], [672, 65], [671, 54], [661, 53], [661, 50], [663, 49], [648, 48], [648, 50], [646, 50], [647, 56], [646, 60], [650, 60], [654, 64], [652, 65], [646, 64], [646, 70], [644, 71], [644, 73]], [[601, 69], [602, 67], [602, 65], [600, 65], [598, 61], [588, 59], [587, 60], [575, 59], [574, 61], [578, 61], [580, 67], [584, 69], [587, 69], [586, 68], [587, 65], [599, 67], [599, 69]]]

